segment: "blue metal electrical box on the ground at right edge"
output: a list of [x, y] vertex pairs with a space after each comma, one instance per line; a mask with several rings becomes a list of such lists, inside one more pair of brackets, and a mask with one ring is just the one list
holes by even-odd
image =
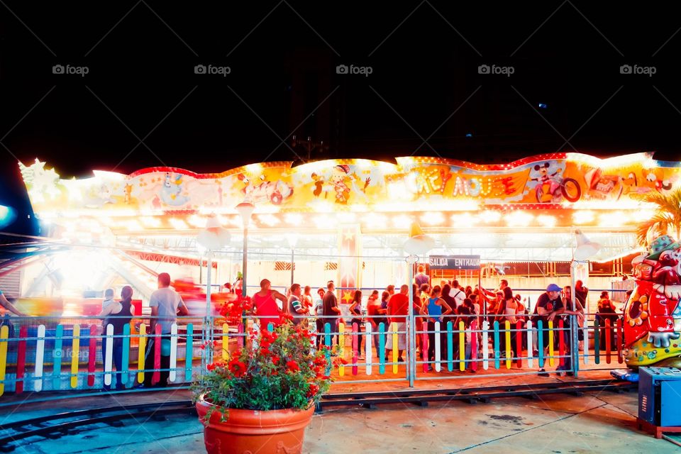
[[654, 426], [681, 426], [681, 370], [638, 369], [638, 418]]

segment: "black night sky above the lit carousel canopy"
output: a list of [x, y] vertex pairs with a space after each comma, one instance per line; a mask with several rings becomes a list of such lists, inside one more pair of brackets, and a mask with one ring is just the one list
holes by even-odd
[[3, 0], [4, 201], [23, 190], [16, 161], [35, 157], [62, 177], [556, 150], [680, 160], [671, 2], [217, 3]]

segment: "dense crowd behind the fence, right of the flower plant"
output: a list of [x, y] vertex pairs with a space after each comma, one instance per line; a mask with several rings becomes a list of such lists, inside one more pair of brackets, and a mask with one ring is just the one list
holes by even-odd
[[[509, 287], [506, 279], [501, 279], [499, 288], [495, 290], [488, 290], [475, 285], [463, 286], [458, 280], [441, 279], [439, 284], [431, 283], [431, 279], [426, 275], [423, 265], [418, 267], [418, 272], [414, 276], [412, 282], [412, 294], [414, 299], [411, 301], [414, 319], [415, 331], [417, 334], [427, 332], [427, 347], [423, 336], [417, 335], [416, 352], [423, 361], [428, 362], [428, 367], [432, 368], [434, 362], [442, 362], [448, 358], [448, 343], [445, 336], [445, 331], [448, 329], [448, 323], [451, 322], [453, 330], [458, 331], [461, 323], [467, 330], [465, 334], [465, 360], [466, 364], [470, 364], [473, 355], [475, 358], [481, 358], [482, 353], [482, 336], [480, 333], [475, 333], [476, 330], [482, 329], [482, 322], [489, 322], [490, 328], [494, 327], [494, 322], [499, 323], [499, 329], [504, 330], [506, 321], [511, 326], [511, 336], [509, 350], [513, 358], [526, 358], [524, 350], [530, 350], [533, 358], [537, 358], [538, 351], [538, 336], [542, 338], [544, 358], [548, 357], [549, 336], [554, 336], [553, 345], [557, 346], [560, 341], [560, 336], [563, 338], [565, 351], [563, 355], [563, 365], [559, 365], [557, 371], [559, 373], [571, 370], [570, 362], [570, 339], [567, 338], [570, 333], [570, 323], [576, 320], [579, 326], [583, 326], [585, 306], [588, 289], [581, 281], [577, 281], [575, 285], [575, 306], [572, 306], [572, 289], [570, 286], [560, 287], [558, 284], [550, 284], [546, 288], [546, 292], [541, 294], [536, 304], [534, 304], [533, 311], [530, 312], [523, 301], [520, 294], [514, 294]], [[323, 343], [325, 337], [326, 325], [331, 333], [331, 340], [333, 344], [338, 342], [337, 333], [339, 323], [344, 323], [345, 333], [357, 334], [358, 341], [356, 350], [358, 351], [358, 360], [363, 360], [365, 352], [365, 343], [367, 333], [363, 329], [364, 323], [368, 322], [371, 325], [372, 346], [375, 350], [375, 357], [380, 358], [380, 326], [382, 324], [384, 331], [384, 360], [392, 361], [393, 356], [393, 333], [397, 336], [397, 361], [404, 362], [404, 350], [406, 350], [406, 333], [407, 333], [407, 315], [409, 314], [409, 286], [403, 284], [399, 289], [394, 285], [388, 285], [383, 291], [374, 289], [370, 291], [367, 296], [365, 306], [362, 305], [362, 291], [355, 290], [353, 292], [352, 300], [348, 305], [348, 311], [344, 314], [341, 311], [341, 305], [338, 304], [338, 297], [336, 296], [336, 287], [333, 281], [328, 281], [326, 289], [319, 288], [316, 294], [312, 293], [311, 287], [304, 287], [301, 289], [299, 284], [293, 284], [288, 290], [287, 294], [281, 294], [275, 289], [272, 289], [271, 282], [268, 279], [263, 279], [260, 283], [260, 292], [253, 297], [254, 309], [253, 315], [260, 319], [260, 323], [274, 322], [279, 318], [282, 312], [288, 311], [294, 316], [295, 323], [311, 323], [314, 324], [318, 336], [318, 345]], [[282, 301], [279, 306], [275, 300]], [[608, 301], [608, 302], [606, 302]], [[575, 317], [570, 317], [575, 316]], [[607, 292], [603, 292], [602, 299], [599, 301], [599, 315], [602, 319], [611, 318], [614, 323], [614, 318], [618, 315], [615, 313], [614, 305], [607, 299]], [[559, 328], [559, 321], [563, 321], [563, 330]], [[533, 326], [533, 345], [527, 345], [526, 336], [523, 336], [526, 331], [516, 331], [518, 327], [525, 330], [528, 321], [532, 321]], [[542, 322], [543, 329], [541, 333], [538, 331], [538, 321]], [[553, 331], [548, 330], [548, 322], [553, 321]], [[440, 348], [436, 348], [436, 323], [440, 323], [440, 330], [443, 332], [440, 338]], [[472, 323], [475, 322], [475, 328]], [[603, 326], [603, 323], [601, 323]], [[582, 330], [577, 331], [580, 340], [580, 349], [582, 348], [583, 333]], [[471, 351], [472, 336], [477, 336], [477, 351]], [[522, 336], [521, 341], [516, 341], [516, 336]], [[602, 330], [601, 336], [607, 336], [607, 333]], [[614, 330], [610, 331], [609, 336], [614, 336]], [[489, 341], [493, 343], [493, 339]], [[506, 359], [506, 336], [499, 338], [499, 357]], [[518, 345], [521, 345], [519, 350]], [[601, 341], [605, 345], [604, 341]], [[611, 345], [614, 345], [614, 337]], [[494, 345], [491, 345], [490, 351], [494, 351]], [[350, 348], [346, 345], [346, 348]], [[354, 346], [352, 348], [355, 348]], [[459, 358], [459, 343], [456, 341], [453, 346], [453, 358]], [[436, 358], [436, 352], [439, 350], [439, 357]], [[556, 347], [556, 350], [558, 348]], [[554, 353], [557, 355], [557, 353]], [[493, 357], [494, 358], [494, 357]], [[540, 371], [546, 374], [546, 370]]]

